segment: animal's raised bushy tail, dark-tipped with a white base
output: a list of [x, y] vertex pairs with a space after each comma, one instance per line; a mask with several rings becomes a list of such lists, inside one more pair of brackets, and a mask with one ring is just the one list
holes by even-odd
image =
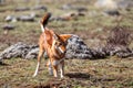
[[48, 12], [41, 20], [41, 30], [44, 32], [45, 25], [48, 24], [49, 19], [51, 18], [51, 13]]

